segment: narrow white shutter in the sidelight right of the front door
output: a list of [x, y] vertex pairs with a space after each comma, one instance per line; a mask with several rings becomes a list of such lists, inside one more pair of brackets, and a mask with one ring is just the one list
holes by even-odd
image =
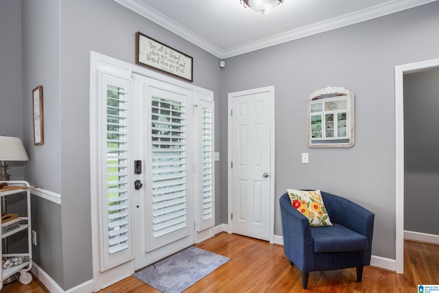
[[213, 102], [200, 100], [200, 196], [197, 230], [215, 224], [214, 218], [214, 160], [213, 160]]

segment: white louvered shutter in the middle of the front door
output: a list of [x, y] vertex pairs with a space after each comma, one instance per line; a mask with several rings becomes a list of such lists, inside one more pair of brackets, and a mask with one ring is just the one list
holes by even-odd
[[152, 97], [154, 238], [187, 226], [184, 117], [182, 102]]

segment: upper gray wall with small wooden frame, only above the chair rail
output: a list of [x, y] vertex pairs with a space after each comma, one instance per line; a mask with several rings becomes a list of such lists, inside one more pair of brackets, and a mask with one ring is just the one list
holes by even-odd
[[[32, 185], [61, 192], [60, 182], [60, 19], [59, 3], [23, 0], [23, 141]], [[34, 145], [32, 89], [43, 86], [44, 145]]]

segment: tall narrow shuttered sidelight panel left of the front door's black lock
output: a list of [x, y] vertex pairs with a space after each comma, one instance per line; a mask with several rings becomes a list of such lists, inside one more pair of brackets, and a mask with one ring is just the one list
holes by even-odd
[[133, 257], [130, 198], [130, 80], [102, 73], [101, 271]]

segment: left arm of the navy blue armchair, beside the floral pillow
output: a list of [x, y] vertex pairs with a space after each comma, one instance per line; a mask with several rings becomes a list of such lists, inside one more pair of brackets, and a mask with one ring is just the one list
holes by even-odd
[[314, 267], [313, 239], [309, 220], [292, 207], [287, 193], [281, 196], [279, 204], [281, 205], [285, 255], [302, 272], [309, 272]]

